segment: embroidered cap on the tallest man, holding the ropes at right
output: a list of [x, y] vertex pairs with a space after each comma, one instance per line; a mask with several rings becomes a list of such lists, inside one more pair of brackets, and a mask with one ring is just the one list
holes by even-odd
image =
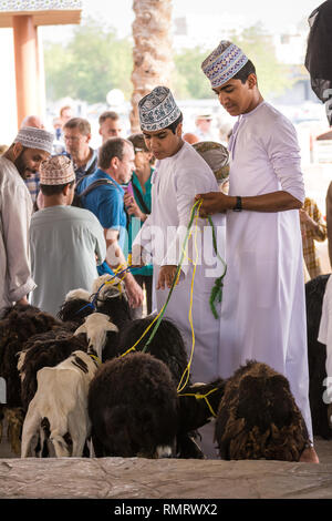
[[211, 86], [217, 88], [231, 80], [247, 62], [248, 58], [240, 48], [227, 40], [221, 40], [204, 60], [201, 69], [210, 80]]

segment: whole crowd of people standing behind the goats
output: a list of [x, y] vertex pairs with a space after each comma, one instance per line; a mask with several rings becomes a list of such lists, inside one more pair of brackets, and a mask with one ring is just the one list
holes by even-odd
[[[194, 381], [227, 378], [248, 359], [269, 364], [289, 379], [313, 439], [303, 269], [321, 273], [314, 241], [326, 238], [326, 226], [304, 196], [294, 127], [263, 100], [252, 62], [221, 41], [201, 67], [220, 104], [239, 116], [229, 152], [219, 144], [222, 183], [211, 161], [211, 115], [199, 114], [184, 134], [166, 86], [139, 101], [141, 133], [124, 137], [120, 116], [102, 113], [97, 150], [89, 121], [70, 106], [54, 119], [54, 132], [37, 116], [24, 119], [0, 157], [0, 307], [29, 300], [56, 315], [69, 290], [91, 288], [97, 274], [122, 272], [132, 258], [135, 275], [127, 270], [124, 284], [133, 316], [143, 315], [144, 303], [147, 314], [167, 304], [164, 316], [178, 326], [188, 355], [191, 320]], [[201, 142], [212, 146], [195, 147]], [[222, 259], [216, 318], [210, 295]], [[318, 461], [313, 446], [302, 460]]]

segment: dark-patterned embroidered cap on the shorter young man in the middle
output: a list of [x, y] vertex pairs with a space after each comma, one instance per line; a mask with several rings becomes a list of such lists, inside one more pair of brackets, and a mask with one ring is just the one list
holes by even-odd
[[167, 86], [156, 86], [138, 102], [139, 123], [143, 131], [166, 129], [180, 116], [180, 110]]

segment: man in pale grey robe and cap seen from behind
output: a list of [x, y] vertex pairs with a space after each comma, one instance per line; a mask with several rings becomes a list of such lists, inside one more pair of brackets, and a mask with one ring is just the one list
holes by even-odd
[[31, 304], [53, 316], [71, 289], [92, 290], [96, 263], [106, 256], [98, 219], [87, 210], [71, 206], [75, 172], [69, 157], [55, 155], [41, 165], [44, 205], [31, 219], [31, 269], [37, 288]]

